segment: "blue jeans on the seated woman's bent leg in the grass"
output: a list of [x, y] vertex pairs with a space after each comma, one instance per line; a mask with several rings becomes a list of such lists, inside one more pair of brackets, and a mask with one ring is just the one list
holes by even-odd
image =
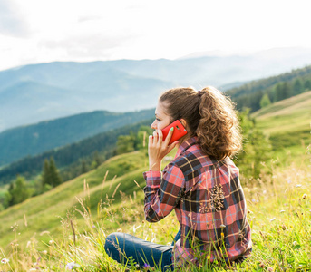
[[121, 263], [130, 266], [129, 257], [139, 267], [158, 267], [161, 271], [170, 268], [174, 270], [171, 262], [174, 242], [180, 238], [180, 231], [174, 238], [171, 246], [153, 244], [141, 238], [129, 234], [114, 232], [106, 238], [105, 250], [108, 256]]

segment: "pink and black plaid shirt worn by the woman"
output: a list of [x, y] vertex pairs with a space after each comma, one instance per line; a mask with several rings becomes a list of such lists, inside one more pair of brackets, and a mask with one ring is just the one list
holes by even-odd
[[180, 145], [162, 173], [147, 171], [143, 175], [146, 220], [157, 222], [175, 209], [180, 222], [175, 264], [181, 259], [198, 265], [202, 257], [211, 262], [248, 257], [252, 243], [247, 207], [232, 160], [207, 156], [193, 137]]

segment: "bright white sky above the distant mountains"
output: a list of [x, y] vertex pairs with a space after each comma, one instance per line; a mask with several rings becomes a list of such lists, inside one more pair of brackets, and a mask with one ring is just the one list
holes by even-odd
[[311, 48], [309, 0], [0, 0], [0, 70]]

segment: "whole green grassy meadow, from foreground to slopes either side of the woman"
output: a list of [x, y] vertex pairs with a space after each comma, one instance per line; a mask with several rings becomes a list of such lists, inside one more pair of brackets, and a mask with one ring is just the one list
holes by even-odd
[[[276, 149], [270, 163], [262, 163], [267, 174], [243, 180], [252, 256], [241, 265], [220, 261], [211, 266], [207, 261], [187, 271], [311, 270], [310, 134], [302, 132], [310, 133], [310, 107], [301, 114], [296, 114], [301, 105], [285, 110], [294, 104], [276, 103], [267, 112], [256, 112], [258, 125], [270, 137], [291, 143]], [[295, 122], [301, 125], [291, 126]], [[147, 162], [145, 151], [113, 157], [96, 170], [2, 211], [0, 271], [127, 271], [104, 252], [112, 231], [170, 244], [179, 225], [174, 213], [155, 224], [143, 218], [141, 173]], [[135, 264], [129, 271], [137, 271]]]

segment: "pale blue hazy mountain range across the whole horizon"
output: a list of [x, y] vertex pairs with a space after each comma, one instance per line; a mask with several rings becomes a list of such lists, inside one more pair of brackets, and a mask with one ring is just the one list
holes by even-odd
[[0, 132], [81, 112], [133, 112], [155, 107], [176, 86], [225, 91], [311, 63], [311, 50], [252, 55], [189, 56], [179, 60], [41, 63], [0, 72]]

